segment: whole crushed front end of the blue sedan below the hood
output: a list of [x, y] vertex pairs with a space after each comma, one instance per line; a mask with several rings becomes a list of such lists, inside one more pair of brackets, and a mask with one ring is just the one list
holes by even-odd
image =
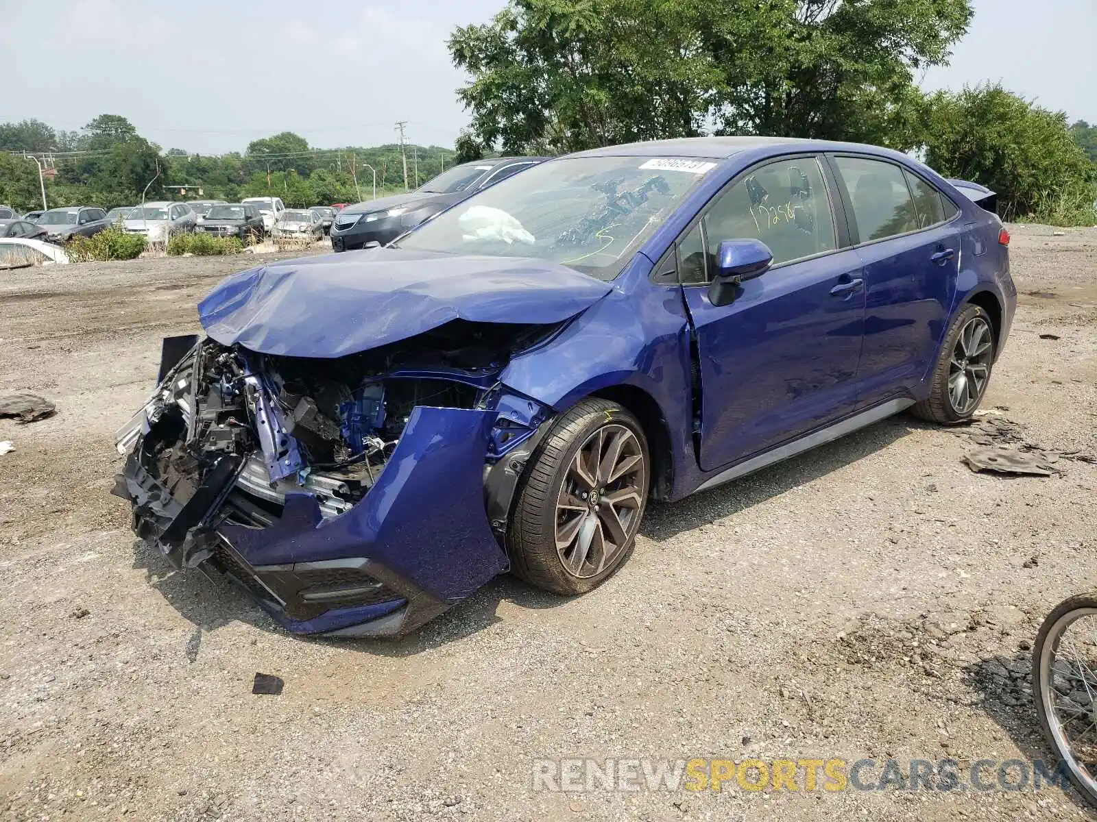
[[507, 569], [551, 410], [497, 378], [551, 331], [457, 320], [333, 359], [169, 339], [114, 493], [172, 564], [225, 574], [293, 632], [406, 633]]

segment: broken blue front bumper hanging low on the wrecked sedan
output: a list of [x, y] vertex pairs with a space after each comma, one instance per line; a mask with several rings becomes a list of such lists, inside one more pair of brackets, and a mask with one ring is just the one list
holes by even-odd
[[114, 489], [134, 504], [135, 533], [177, 568], [227, 576], [291, 632], [403, 635], [507, 569], [484, 503], [496, 411], [417, 407], [365, 495], [325, 517], [304, 487], [281, 515], [257, 507], [235, 455], [193, 488], [162, 484], [145, 468], [151, 407]]

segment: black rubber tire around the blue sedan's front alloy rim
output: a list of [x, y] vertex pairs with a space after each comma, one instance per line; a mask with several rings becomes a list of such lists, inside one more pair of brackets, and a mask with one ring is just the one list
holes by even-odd
[[[590, 446], [590, 442], [597, 432], [604, 430], [609, 432], [607, 436], [615, 437], [621, 435], [621, 429], [627, 430], [635, 437], [642, 461], [638, 471], [630, 470], [621, 480], [611, 481], [610, 494], [614, 493], [613, 482], [632, 482], [635, 486], [635, 493], [630, 495], [635, 496], [638, 493], [638, 507], [634, 513], [627, 514], [629, 523], [624, 529], [626, 538], [621, 540], [623, 545], [612, 546], [613, 553], [604, 561], [604, 567], [589, 575], [576, 574], [565, 567], [564, 557], [556, 547], [558, 517], [562, 516], [557, 509], [557, 503], [562, 499], [561, 491], [565, 481], [570, 482], [569, 469], [579, 450], [588, 446], [593, 447]], [[631, 441], [629, 447], [632, 447]], [[596, 484], [600, 484], [601, 477], [596, 479], [598, 479]], [[538, 587], [557, 594], [583, 594], [597, 587], [611, 576], [632, 552], [646, 507], [649, 482], [651, 457], [647, 439], [636, 418], [609, 400], [588, 399], [577, 403], [561, 415], [527, 466], [524, 481], [519, 489], [507, 528], [507, 548], [512, 573]], [[609, 499], [606, 492], [607, 488], [603, 487], [602, 505], [606, 505]], [[600, 510], [598, 503], [592, 501], [590, 504], [591, 513], [597, 514]], [[609, 553], [604, 530], [600, 524], [596, 525], [600, 535], [598, 541], [601, 543], [601, 550]], [[584, 556], [592, 548], [590, 539], [587, 545]], [[593, 550], [592, 557], [597, 556], [597, 549]], [[579, 566], [580, 570], [584, 570], [581, 559]]]

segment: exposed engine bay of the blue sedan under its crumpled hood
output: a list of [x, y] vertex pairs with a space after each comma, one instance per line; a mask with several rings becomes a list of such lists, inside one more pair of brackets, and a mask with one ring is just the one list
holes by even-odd
[[[455, 320], [338, 359], [256, 354], [207, 339], [146, 406], [145, 425], [120, 432], [118, 449], [147, 427], [140, 467], [183, 503], [218, 465], [233, 463], [225, 516], [241, 525], [270, 525], [290, 492], [315, 495], [323, 514], [335, 516], [374, 484], [412, 409], [484, 407], [498, 395], [510, 353], [551, 331]], [[509, 444], [512, 435], [501, 438]]]

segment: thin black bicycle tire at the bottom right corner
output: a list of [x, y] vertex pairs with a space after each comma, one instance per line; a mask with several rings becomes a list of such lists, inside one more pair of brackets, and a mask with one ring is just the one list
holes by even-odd
[[1055, 698], [1053, 665], [1059, 652], [1059, 640], [1075, 619], [1089, 615], [1097, 616], [1097, 596], [1083, 594], [1064, 600], [1043, 620], [1032, 644], [1032, 701], [1036, 703], [1036, 713], [1043, 737], [1055, 756], [1065, 763], [1071, 783], [1087, 802], [1097, 808], [1097, 774], [1094, 773], [1093, 764], [1085, 767], [1076, 760], [1068, 745], [1064, 749], [1063, 742], [1056, 739], [1052, 730], [1052, 722], [1059, 728], [1062, 726], [1056, 718], [1049, 716], [1050, 701]]

